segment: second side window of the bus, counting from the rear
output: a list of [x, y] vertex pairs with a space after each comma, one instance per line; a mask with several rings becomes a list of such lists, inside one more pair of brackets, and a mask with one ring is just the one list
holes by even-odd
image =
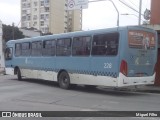
[[72, 55], [89, 56], [91, 49], [91, 37], [75, 37], [73, 39]]

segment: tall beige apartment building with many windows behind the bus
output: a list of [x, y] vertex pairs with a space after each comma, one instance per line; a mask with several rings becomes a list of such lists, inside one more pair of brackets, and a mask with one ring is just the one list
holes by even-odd
[[82, 29], [81, 11], [68, 11], [68, 0], [21, 0], [21, 27], [43, 33], [64, 33]]

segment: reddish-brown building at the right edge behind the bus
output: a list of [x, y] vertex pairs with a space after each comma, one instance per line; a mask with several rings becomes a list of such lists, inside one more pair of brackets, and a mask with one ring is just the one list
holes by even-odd
[[151, 0], [151, 18], [150, 24], [146, 27], [152, 28], [158, 33], [158, 61], [156, 66], [155, 84], [160, 86], [160, 0]]

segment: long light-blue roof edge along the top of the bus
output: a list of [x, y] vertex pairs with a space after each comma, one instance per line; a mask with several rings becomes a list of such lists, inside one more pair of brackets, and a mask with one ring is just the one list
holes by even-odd
[[143, 26], [122, 26], [122, 27], [114, 27], [114, 28], [105, 28], [105, 29], [88, 30], [88, 31], [76, 31], [76, 32], [69, 32], [69, 33], [54, 34], [54, 35], [38, 36], [33, 38], [23, 38], [23, 39], [17, 39], [17, 40], [10, 40], [7, 43], [12, 44], [12, 43], [20, 43], [20, 42], [28, 42], [28, 41], [34, 42], [39, 40], [69, 38], [69, 37], [75, 37], [75, 36], [81, 36], [81, 35], [87, 36], [91, 34], [106, 33], [106, 32], [128, 30], [128, 29], [148, 30], [150, 32], [154, 32], [154, 30], [143, 27]]

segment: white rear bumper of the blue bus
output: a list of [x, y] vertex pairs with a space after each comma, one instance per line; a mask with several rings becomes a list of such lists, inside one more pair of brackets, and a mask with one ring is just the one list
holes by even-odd
[[133, 85], [149, 85], [154, 84], [155, 75], [149, 77], [126, 77], [122, 73], [119, 74], [117, 86], [124, 87], [124, 86], [133, 86]]

